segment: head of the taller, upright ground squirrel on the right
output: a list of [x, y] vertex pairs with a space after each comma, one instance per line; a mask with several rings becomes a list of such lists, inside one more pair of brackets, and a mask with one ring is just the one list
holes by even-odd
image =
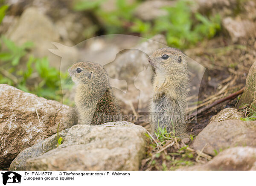
[[187, 56], [176, 48], [161, 48], [148, 57], [155, 70], [166, 72], [184, 72], [187, 70]]

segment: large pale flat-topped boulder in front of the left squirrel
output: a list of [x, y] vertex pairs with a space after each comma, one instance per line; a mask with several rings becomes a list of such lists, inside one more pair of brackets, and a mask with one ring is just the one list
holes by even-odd
[[139, 170], [147, 145], [146, 130], [130, 122], [75, 125], [26, 148], [10, 170]]

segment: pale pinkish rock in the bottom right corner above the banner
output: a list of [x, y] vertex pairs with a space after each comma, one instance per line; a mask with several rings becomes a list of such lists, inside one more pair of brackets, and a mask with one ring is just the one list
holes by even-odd
[[256, 170], [256, 148], [233, 147], [222, 151], [203, 165], [186, 167], [186, 171], [249, 171]]

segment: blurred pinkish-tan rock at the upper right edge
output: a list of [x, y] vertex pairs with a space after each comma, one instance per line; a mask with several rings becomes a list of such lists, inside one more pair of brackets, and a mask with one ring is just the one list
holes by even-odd
[[222, 20], [222, 26], [227, 30], [233, 43], [241, 43], [256, 36], [256, 23], [250, 20], [235, 20], [226, 17]]

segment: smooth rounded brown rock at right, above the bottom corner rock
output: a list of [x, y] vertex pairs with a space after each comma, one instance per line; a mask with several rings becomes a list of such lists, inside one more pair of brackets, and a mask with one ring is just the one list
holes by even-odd
[[215, 155], [229, 147], [256, 147], [256, 121], [245, 122], [240, 119], [212, 122], [201, 131], [192, 143], [196, 150]]

